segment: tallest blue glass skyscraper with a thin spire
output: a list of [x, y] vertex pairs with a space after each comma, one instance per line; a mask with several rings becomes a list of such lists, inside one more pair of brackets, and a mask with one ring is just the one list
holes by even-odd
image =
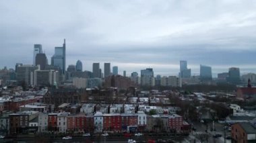
[[51, 64], [53, 66], [59, 66], [61, 68], [61, 73], [65, 74], [66, 70], [66, 43], [62, 47], [55, 47], [55, 54], [52, 57]]

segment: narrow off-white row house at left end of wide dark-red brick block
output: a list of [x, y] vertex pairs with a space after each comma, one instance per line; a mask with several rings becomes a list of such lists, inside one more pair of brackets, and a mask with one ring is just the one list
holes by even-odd
[[59, 128], [59, 132], [66, 133], [67, 132], [67, 116], [69, 112], [58, 113], [57, 116], [57, 127]]

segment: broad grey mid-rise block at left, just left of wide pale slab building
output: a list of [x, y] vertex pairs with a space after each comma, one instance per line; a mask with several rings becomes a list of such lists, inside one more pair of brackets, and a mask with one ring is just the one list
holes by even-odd
[[17, 66], [17, 81], [20, 84], [25, 83], [26, 85], [31, 85], [31, 73], [34, 72], [34, 70], [39, 69], [38, 66], [33, 65], [21, 65]]

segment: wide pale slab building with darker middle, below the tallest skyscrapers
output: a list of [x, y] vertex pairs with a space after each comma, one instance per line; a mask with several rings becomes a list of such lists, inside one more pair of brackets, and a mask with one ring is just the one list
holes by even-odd
[[59, 83], [59, 72], [56, 70], [34, 70], [32, 73], [32, 85], [49, 86]]

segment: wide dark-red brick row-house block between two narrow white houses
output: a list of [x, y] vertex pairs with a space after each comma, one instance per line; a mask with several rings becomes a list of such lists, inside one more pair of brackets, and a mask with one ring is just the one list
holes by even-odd
[[67, 117], [67, 132], [93, 132], [94, 116], [93, 115], [69, 115]]

